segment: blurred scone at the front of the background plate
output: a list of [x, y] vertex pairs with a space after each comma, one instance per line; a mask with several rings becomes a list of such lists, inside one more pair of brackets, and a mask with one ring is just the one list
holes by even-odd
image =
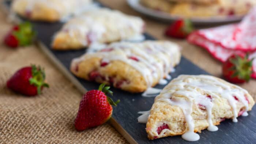
[[168, 0], [141, 0], [141, 3], [148, 8], [184, 18], [241, 16], [247, 14], [250, 8], [256, 5], [255, 0], [218, 0], [217, 3], [208, 5], [189, 2], [175, 3]]

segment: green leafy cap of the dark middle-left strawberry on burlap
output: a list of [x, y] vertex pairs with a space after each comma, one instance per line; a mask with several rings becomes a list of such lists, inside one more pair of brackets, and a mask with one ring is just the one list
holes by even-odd
[[36, 67], [35, 65], [31, 65], [32, 67], [32, 77], [29, 79], [29, 83], [37, 87], [37, 94], [41, 94], [42, 87], [49, 87], [49, 84], [45, 83], [45, 72], [40, 66]]

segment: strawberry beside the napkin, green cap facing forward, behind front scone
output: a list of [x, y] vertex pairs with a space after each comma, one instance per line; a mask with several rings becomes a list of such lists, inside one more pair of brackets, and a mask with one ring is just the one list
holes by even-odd
[[248, 59], [248, 54], [232, 55], [222, 65], [224, 78], [232, 83], [248, 82], [252, 72], [252, 60]]

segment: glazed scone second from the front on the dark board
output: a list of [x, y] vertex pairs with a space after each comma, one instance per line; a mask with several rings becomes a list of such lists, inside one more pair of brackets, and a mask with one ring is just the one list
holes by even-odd
[[173, 42], [117, 42], [73, 59], [70, 69], [86, 80], [105, 82], [124, 91], [143, 92], [169, 78], [169, 72], [180, 58], [180, 48]]

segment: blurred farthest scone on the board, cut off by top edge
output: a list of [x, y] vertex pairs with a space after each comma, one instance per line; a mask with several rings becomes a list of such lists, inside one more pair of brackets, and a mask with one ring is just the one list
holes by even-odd
[[92, 0], [13, 0], [12, 11], [31, 20], [55, 22], [90, 4]]

